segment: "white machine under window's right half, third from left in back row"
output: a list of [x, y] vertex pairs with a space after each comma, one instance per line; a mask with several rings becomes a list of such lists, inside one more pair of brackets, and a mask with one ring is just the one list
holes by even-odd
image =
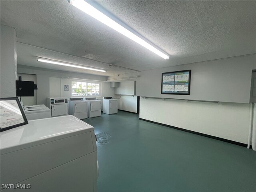
[[101, 102], [100, 100], [96, 100], [96, 97], [85, 98], [88, 102], [88, 117], [98, 117], [101, 116]]

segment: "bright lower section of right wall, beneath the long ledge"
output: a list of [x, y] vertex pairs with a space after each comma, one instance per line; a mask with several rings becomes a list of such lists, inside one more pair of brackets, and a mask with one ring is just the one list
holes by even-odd
[[246, 144], [250, 104], [140, 98], [140, 118]]

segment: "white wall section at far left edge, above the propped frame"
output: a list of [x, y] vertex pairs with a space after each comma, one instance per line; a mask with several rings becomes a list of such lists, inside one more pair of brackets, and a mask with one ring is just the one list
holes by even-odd
[[15, 97], [17, 80], [16, 32], [14, 28], [5, 25], [1, 25], [0, 58], [0, 97]]

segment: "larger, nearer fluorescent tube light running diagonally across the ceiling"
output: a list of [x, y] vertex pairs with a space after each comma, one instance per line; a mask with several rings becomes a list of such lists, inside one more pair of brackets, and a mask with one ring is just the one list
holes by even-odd
[[159, 55], [160, 57], [164, 59], [169, 59], [169, 56], [165, 53], [161, 52], [154, 46], [150, 45], [148, 42], [143, 40], [142, 38], [138, 37], [136, 34], [130, 32], [128, 29], [124, 28], [122, 25], [118, 24], [90, 4], [88, 4], [84, 0], [68, 0], [70, 4], [75, 6], [76, 8], [82, 10], [86, 14], [92, 16], [93, 18], [97, 19], [98, 21], [104, 23], [105, 25], [111, 27], [112, 29], [116, 30], [117, 32], [123, 34], [124, 36], [130, 38], [131, 40], [135, 41], [136, 43], [144, 46], [148, 50], [154, 52], [155, 54]]

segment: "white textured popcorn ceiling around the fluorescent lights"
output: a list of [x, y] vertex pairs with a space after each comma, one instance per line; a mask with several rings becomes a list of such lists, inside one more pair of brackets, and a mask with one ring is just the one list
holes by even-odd
[[23, 43], [17, 46], [18, 64], [60, 69], [38, 64], [35, 57], [41, 56], [105, 68], [104, 74], [82, 72], [112, 76], [132, 70], [108, 64], [148, 70], [256, 52], [255, 1], [97, 2], [170, 54], [170, 59], [162, 59], [66, 0], [1, 0], [1, 24], [14, 27], [17, 41]]

